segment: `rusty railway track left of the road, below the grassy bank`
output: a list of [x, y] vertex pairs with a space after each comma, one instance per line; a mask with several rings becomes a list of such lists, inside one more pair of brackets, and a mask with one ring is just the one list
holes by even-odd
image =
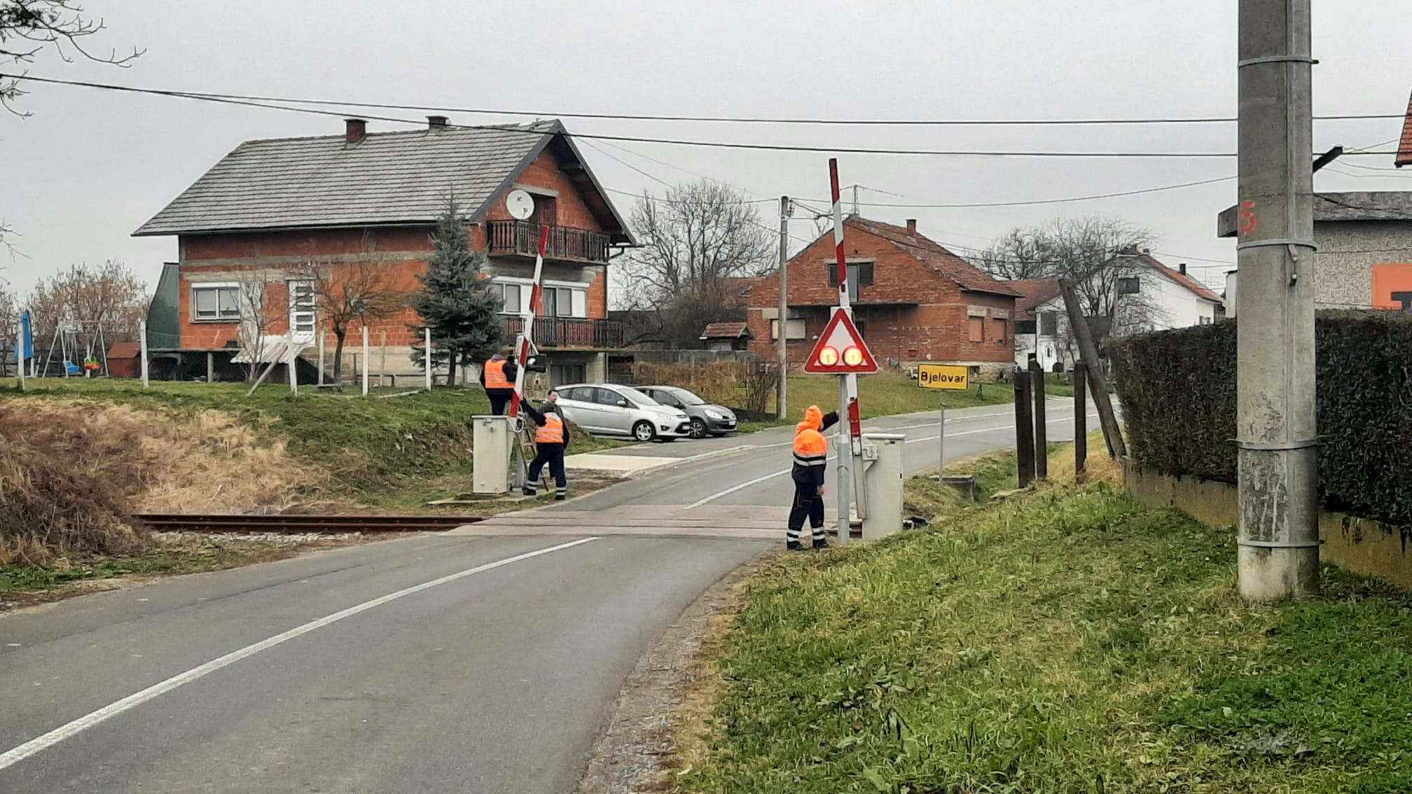
[[182, 516], [175, 513], [145, 513], [134, 517], [158, 531], [285, 535], [422, 533], [452, 530], [486, 520], [484, 516]]

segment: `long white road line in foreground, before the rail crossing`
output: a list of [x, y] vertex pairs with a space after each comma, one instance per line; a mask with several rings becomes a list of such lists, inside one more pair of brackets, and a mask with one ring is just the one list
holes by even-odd
[[[83, 730], [88, 730], [89, 728], [93, 728], [95, 725], [99, 725], [99, 723], [102, 723], [102, 722], [104, 722], [107, 719], [112, 719], [112, 718], [114, 718], [114, 716], [117, 716], [117, 715], [120, 715], [120, 713], [123, 713], [126, 711], [134, 709], [134, 708], [145, 704], [147, 701], [151, 701], [152, 698], [158, 698], [161, 695], [165, 695], [167, 692], [171, 692], [172, 689], [175, 689], [175, 688], [178, 688], [178, 687], [181, 687], [184, 684], [191, 684], [192, 681], [196, 681], [198, 678], [209, 675], [209, 674], [212, 674], [212, 672], [215, 672], [215, 671], [217, 671], [217, 670], [220, 670], [223, 667], [229, 667], [229, 665], [232, 665], [232, 664], [234, 664], [234, 663], [237, 663], [237, 661], [240, 661], [243, 658], [251, 657], [251, 656], [254, 656], [254, 654], [257, 654], [260, 651], [264, 651], [264, 650], [270, 650], [270, 648], [273, 648], [273, 647], [275, 647], [275, 646], [278, 646], [281, 643], [287, 643], [287, 641], [289, 641], [289, 640], [292, 640], [295, 637], [301, 637], [304, 634], [308, 634], [309, 632], [313, 632], [316, 629], [322, 629], [325, 626], [329, 626], [330, 623], [337, 623], [339, 620], [343, 620], [345, 617], [352, 617], [354, 615], [359, 615], [360, 612], [367, 612], [369, 609], [373, 609], [373, 608], [377, 608], [377, 606], [383, 606], [384, 603], [390, 603], [390, 602], [394, 602], [394, 600], [397, 600], [400, 598], [407, 598], [409, 595], [419, 593], [422, 591], [429, 591], [429, 589], [432, 589], [435, 586], [445, 585], [448, 582], [455, 582], [456, 579], [465, 579], [466, 576], [472, 576], [474, 574], [481, 574], [484, 571], [490, 571], [493, 568], [500, 568], [503, 565], [510, 565], [511, 562], [520, 562], [522, 559], [530, 559], [531, 557], [539, 557], [541, 554], [549, 554], [549, 552], [554, 552], [554, 551], [563, 551], [565, 548], [572, 548], [575, 545], [580, 545], [580, 544], [585, 544], [585, 543], [592, 543], [592, 541], [596, 541], [596, 540], [599, 540], [599, 538], [597, 537], [579, 538], [576, 541], [562, 543], [559, 545], [551, 545], [549, 548], [541, 548], [538, 551], [527, 551], [525, 554], [517, 554], [514, 557], [507, 557], [504, 559], [497, 559], [494, 562], [487, 562], [484, 565], [477, 565], [474, 568], [467, 568], [465, 571], [457, 571], [455, 574], [449, 574], [449, 575], [442, 576], [439, 579], [432, 579], [429, 582], [422, 582], [419, 585], [412, 585], [409, 588], [400, 589], [400, 591], [397, 591], [394, 593], [387, 593], [385, 596], [381, 596], [381, 598], [374, 598], [373, 600], [364, 600], [360, 605], [350, 606], [347, 609], [335, 612], [333, 615], [328, 615], [325, 617], [319, 617], [318, 620], [311, 620], [311, 622], [308, 622], [308, 623], [305, 623], [302, 626], [297, 626], [294, 629], [289, 629], [288, 632], [275, 634], [275, 636], [273, 636], [273, 637], [270, 637], [267, 640], [261, 640], [261, 641], [254, 643], [251, 646], [246, 646], [246, 647], [243, 647], [240, 650], [230, 651], [230, 653], [227, 653], [223, 657], [213, 658], [213, 660], [208, 661], [206, 664], [202, 664], [202, 665], [198, 665], [198, 667], [192, 667], [186, 672], [179, 672], [176, 675], [172, 675], [171, 678], [168, 678], [165, 681], [161, 681], [158, 684], [152, 684], [151, 687], [148, 687], [148, 688], [145, 688], [145, 689], [143, 689], [140, 692], [133, 692], [131, 695], [128, 695], [128, 697], [126, 697], [126, 698], [123, 698], [120, 701], [112, 702], [112, 704], [109, 704], [109, 705], [106, 705], [106, 706], [103, 706], [103, 708], [100, 708], [100, 709], [97, 709], [95, 712], [86, 713], [86, 715], [83, 715], [83, 716], [80, 716], [80, 718], [78, 718], [78, 719], [75, 719], [75, 721], [66, 723], [66, 725], [61, 725], [59, 728], [55, 728], [54, 730], [49, 730], [48, 733], [45, 733], [42, 736], [37, 736], [34, 739], [30, 739], [24, 745], [20, 745], [18, 747], [14, 747], [13, 750], [8, 750], [8, 752], [0, 754], [0, 770], [8, 769], [8, 767], [11, 767], [11, 766], [14, 766], [14, 764], [17, 764], [20, 762], [23, 762], [24, 759], [28, 759], [30, 756], [32, 756], [35, 753], [44, 752], [44, 750], [52, 747], [54, 745], [58, 745], [59, 742], [62, 742], [62, 740], [65, 740], [65, 739], [68, 739], [71, 736], [82, 733]], [[38, 684], [35, 684], [35, 687], [38, 687]]]

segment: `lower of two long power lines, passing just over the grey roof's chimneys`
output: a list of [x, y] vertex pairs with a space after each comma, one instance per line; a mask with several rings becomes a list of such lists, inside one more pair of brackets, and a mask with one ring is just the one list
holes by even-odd
[[[160, 89], [144, 89], [133, 86], [119, 86], [112, 83], [93, 83], [83, 81], [58, 81], [51, 78], [35, 78], [30, 75], [6, 75], [0, 73], [3, 79], [27, 79], [32, 82], [45, 82], [55, 85], [69, 85], [80, 88], [93, 88], [102, 90], [121, 90], [128, 93], [145, 93], [155, 96], [172, 96], [179, 99], [193, 99], [201, 102], [219, 102], [225, 105], [239, 105], [247, 107], [264, 107], [270, 110], [288, 110], [294, 113], [313, 113], [322, 116], [345, 116], [335, 110], [318, 110], [313, 107], [295, 107], [291, 105], [277, 105], [280, 100], [251, 100], [244, 99], [244, 95], [216, 95], [216, 93], [188, 93], [175, 90], [160, 90]], [[299, 100], [291, 100], [299, 102]], [[332, 102], [329, 105], [333, 105]], [[366, 106], [366, 105], [364, 105]], [[414, 119], [400, 119], [395, 116], [364, 116], [366, 119], [378, 122], [391, 122], [397, 124], [422, 124], [421, 120]], [[507, 126], [486, 126], [486, 124], [446, 124], [453, 129], [498, 129], [507, 133], [521, 133], [539, 136], [544, 134], [537, 130], [525, 130]], [[870, 147], [849, 147], [849, 146], [798, 146], [798, 144], [771, 144], [771, 143], [733, 143], [733, 141], [706, 141], [706, 140], [688, 140], [688, 138], [658, 138], [658, 137], [642, 137], [642, 136], [606, 136], [606, 134], [585, 134], [585, 133], [565, 133], [572, 138], [580, 140], [599, 140], [599, 141], [624, 141], [624, 143], [655, 143], [666, 146], [693, 146], [706, 148], [731, 148], [731, 150], [753, 150], [753, 151], [808, 151], [808, 153], [829, 153], [829, 154], [880, 154], [880, 155], [922, 155], [922, 157], [1014, 157], [1014, 158], [1070, 158], [1070, 160], [1161, 160], [1161, 158], [1175, 158], [1175, 160], [1211, 160], [1211, 158], [1234, 158], [1236, 153], [1230, 151], [1039, 151], [1039, 150], [1015, 150], [1015, 151], [987, 151], [987, 150], [923, 150], [923, 148], [870, 148]], [[1381, 155], [1381, 154], [1396, 154], [1384, 151], [1356, 151], [1346, 153], [1344, 155]]]

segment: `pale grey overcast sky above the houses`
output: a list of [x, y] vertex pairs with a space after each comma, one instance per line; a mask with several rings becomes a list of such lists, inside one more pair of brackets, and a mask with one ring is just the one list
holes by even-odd
[[[44, 58], [31, 73], [195, 92], [565, 112], [833, 119], [1234, 116], [1234, 0], [85, 0], [128, 69]], [[1412, 90], [1412, 3], [1315, 0], [1316, 114], [1401, 113]], [[90, 41], [92, 44], [92, 41]], [[4, 65], [0, 71], [10, 71]], [[175, 237], [130, 233], [249, 138], [336, 134], [337, 117], [31, 85], [0, 113], [0, 219], [27, 254], [0, 253], [20, 291], [69, 263], [120, 259], [155, 283]], [[419, 119], [418, 112], [384, 112]], [[452, 113], [453, 123], [513, 116]], [[570, 131], [890, 148], [1234, 151], [1234, 124], [1137, 127], [803, 127], [565, 119]], [[405, 129], [371, 122], [371, 131]], [[1319, 150], [1396, 138], [1398, 120], [1322, 122]], [[751, 198], [827, 196], [823, 153], [664, 144], [582, 146], [602, 182], [659, 191], [709, 175]], [[604, 154], [606, 153], [606, 154]], [[1399, 189], [1389, 157], [1347, 158], [1316, 188]], [[1234, 174], [1234, 160], [840, 157], [864, 201], [956, 203], [1093, 195]], [[1409, 170], [1412, 171], [1412, 170]], [[1028, 208], [864, 206], [928, 236], [984, 246], [1055, 215], [1151, 227], [1161, 259], [1219, 283], [1234, 246], [1213, 235], [1234, 181]], [[614, 196], [627, 213], [631, 199]], [[774, 226], [774, 208], [761, 205]], [[799, 218], [792, 233], [812, 237]], [[796, 243], [798, 246], [799, 243]]]

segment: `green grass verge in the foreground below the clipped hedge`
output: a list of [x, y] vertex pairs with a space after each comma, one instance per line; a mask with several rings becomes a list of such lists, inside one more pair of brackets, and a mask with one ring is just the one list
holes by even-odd
[[1230, 528], [1104, 485], [782, 557], [682, 793], [1412, 791], [1412, 599], [1248, 606]]

